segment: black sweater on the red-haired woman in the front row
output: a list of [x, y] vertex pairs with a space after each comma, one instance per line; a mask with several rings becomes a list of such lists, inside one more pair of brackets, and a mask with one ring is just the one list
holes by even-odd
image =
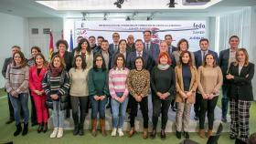
[[157, 92], [169, 93], [169, 99], [175, 96], [176, 93], [176, 74], [173, 67], [165, 70], [159, 69], [155, 66], [151, 72], [151, 87], [156, 94]]

